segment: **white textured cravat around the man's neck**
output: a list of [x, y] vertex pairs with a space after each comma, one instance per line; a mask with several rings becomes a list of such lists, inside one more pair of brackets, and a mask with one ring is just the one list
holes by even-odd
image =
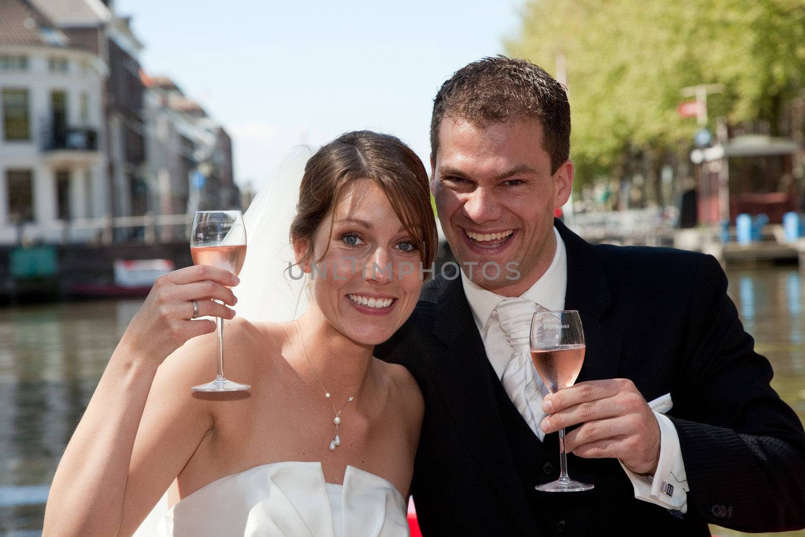
[[501, 382], [514, 407], [526, 420], [531, 431], [539, 436], [539, 440], [545, 436], [539, 428], [539, 423], [545, 416], [542, 411], [543, 382], [534, 372], [528, 337], [531, 318], [535, 312], [543, 309], [533, 300], [523, 298], [502, 299], [495, 308], [497, 320], [512, 349]]

